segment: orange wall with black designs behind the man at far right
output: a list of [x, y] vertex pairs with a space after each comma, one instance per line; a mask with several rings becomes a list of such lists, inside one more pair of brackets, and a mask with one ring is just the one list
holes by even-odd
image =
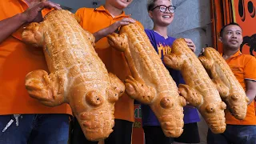
[[[214, 48], [222, 53], [222, 44], [218, 42], [218, 34], [222, 26], [237, 22], [242, 27], [243, 43], [245, 43], [240, 50], [243, 54], [256, 56], [256, 1], [210, 0], [210, 4]], [[254, 104], [256, 110], [256, 98]]]

